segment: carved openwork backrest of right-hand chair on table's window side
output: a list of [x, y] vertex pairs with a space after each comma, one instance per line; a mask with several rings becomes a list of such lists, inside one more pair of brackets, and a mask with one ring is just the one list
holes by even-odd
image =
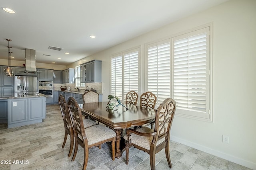
[[152, 92], [145, 92], [140, 96], [140, 107], [154, 109], [156, 106], [156, 95]]

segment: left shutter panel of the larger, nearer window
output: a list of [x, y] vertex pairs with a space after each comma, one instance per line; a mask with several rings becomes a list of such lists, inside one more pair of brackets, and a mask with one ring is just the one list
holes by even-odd
[[156, 105], [170, 97], [170, 40], [148, 46], [147, 88], [157, 96]]

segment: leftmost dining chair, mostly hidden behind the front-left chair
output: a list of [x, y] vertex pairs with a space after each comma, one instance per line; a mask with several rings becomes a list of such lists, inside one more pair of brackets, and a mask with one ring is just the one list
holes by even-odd
[[[67, 141], [67, 137], [68, 135], [70, 135], [70, 148], [68, 152], [68, 157], [70, 157], [73, 150], [73, 146], [74, 146], [74, 128], [73, 128], [71, 117], [68, 111], [68, 105], [66, 103], [65, 98], [62, 96], [62, 94], [60, 94], [59, 96], [59, 105], [60, 105], [60, 111], [61, 111], [63, 123], [64, 123], [64, 141], [62, 144], [62, 148], [64, 148]], [[86, 119], [83, 122], [84, 122], [84, 128], [97, 125], [95, 121], [92, 121], [90, 119]]]

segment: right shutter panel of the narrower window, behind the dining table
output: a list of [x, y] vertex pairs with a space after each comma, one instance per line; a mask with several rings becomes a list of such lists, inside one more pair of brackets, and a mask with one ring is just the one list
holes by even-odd
[[124, 98], [131, 90], [138, 92], [138, 49], [124, 53]]

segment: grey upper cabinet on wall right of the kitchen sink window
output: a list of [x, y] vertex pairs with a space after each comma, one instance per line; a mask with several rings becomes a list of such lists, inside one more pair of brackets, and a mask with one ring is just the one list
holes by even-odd
[[100, 60], [92, 60], [84, 64], [80, 64], [80, 80], [83, 83], [101, 82], [101, 62]]

